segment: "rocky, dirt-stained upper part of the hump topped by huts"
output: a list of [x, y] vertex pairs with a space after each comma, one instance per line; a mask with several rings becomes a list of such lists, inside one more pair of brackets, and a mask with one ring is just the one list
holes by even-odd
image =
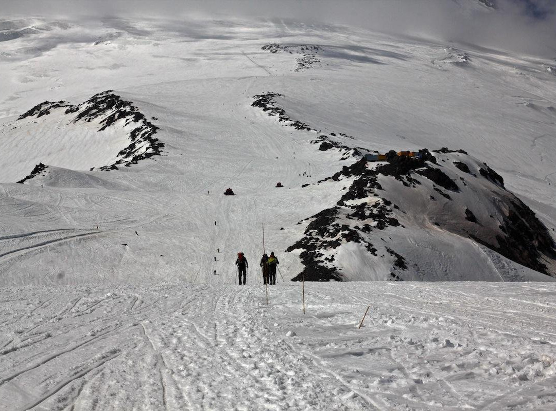
[[[463, 150], [441, 149], [433, 155], [424, 149], [419, 153], [419, 158], [409, 158], [391, 152], [386, 162], [373, 166], [361, 159], [319, 182], [351, 181], [334, 207], [304, 220], [309, 221], [305, 236], [287, 248], [289, 252], [301, 250], [305, 266], [294, 281], [303, 277], [344, 280], [336, 260], [347, 243], [358, 243], [360, 250], [365, 250], [360, 252], [368, 253], [366, 261], [383, 266], [386, 262], [391, 280], [415, 278], [418, 268], [395, 251], [389, 234], [394, 227], [415, 229], [405, 227], [404, 221], [416, 213], [424, 213], [419, 217], [441, 230], [473, 239], [510, 260], [556, 276], [556, 246], [547, 228], [504, 188], [497, 172]], [[393, 190], [397, 184], [405, 188]]]

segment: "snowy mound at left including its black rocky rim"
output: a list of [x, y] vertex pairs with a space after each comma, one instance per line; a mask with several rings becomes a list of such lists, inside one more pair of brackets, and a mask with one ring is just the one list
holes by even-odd
[[3, 179], [20, 180], [37, 163], [74, 170], [137, 164], [160, 155], [164, 144], [153, 137], [157, 130], [136, 106], [112, 90], [78, 105], [43, 102], [0, 129], [6, 136], [4, 144], [19, 148], [17, 158], [2, 160], [9, 170]]

